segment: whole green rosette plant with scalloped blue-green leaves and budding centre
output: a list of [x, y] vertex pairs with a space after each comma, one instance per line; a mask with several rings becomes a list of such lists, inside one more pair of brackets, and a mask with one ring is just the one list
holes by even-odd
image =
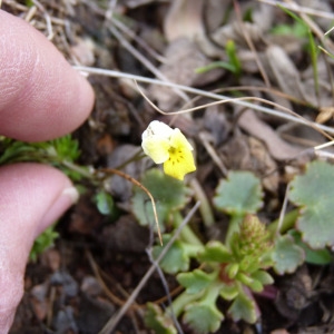
[[[227, 313], [234, 321], [256, 322], [259, 310], [254, 294], [261, 294], [266, 285], [274, 283], [268, 269], [282, 275], [295, 272], [304, 261], [320, 264], [332, 261], [324, 248], [333, 242], [333, 234], [325, 233], [327, 227], [332, 228], [328, 219], [331, 206], [326, 200], [333, 198], [334, 185], [328, 180], [334, 180], [334, 167], [316, 161], [310, 164], [304, 176], [292, 181], [291, 199], [298, 208], [286, 215], [281, 230], [277, 230], [278, 222], [266, 226], [256, 216], [263, 206], [258, 178], [248, 171], [233, 171], [227, 179], [220, 180], [214, 206], [230, 217], [225, 242], [204, 244], [191, 227], [186, 226], [160, 263], [166, 273], [176, 274], [184, 292], [164, 311], [159, 305], [148, 303], [146, 324], [157, 333], [173, 334], [177, 333], [174, 318], [181, 317], [195, 333], [215, 332], [225, 318], [217, 306], [219, 298], [229, 303]], [[170, 178], [155, 169], [143, 178], [143, 184], [157, 200], [160, 222], [164, 222], [161, 229], [168, 230], [163, 235], [165, 245], [170, 232], [179, 226], [180, 209], [188, 198], [187, 187], [175, 181], [173, 184]], [[324, 200], [320, 202], [320, 198]], [[146, 202], [145, 194], [136, 190], [132, 209], [141, 224], [149, 222]], [[314, 227], [315, 213], [317, 219], [323, 217], [317, 222], [323, 225], [324, 234]], [[312, 249], [314, 245], [321, 249]], [[160, 246], [154, 247], [155, 257], [161, 249]], [[197, 262], [195, 269], [190, 268], [191, 258]]]

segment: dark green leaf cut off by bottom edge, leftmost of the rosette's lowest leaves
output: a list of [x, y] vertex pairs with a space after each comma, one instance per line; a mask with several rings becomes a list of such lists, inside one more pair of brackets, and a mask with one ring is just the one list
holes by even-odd
[[174, 326], [173, 320], [163, 313], [161, 308], [154, 304], [147, 303], [147, 311], [145, 313], [145, 324], [155, 331], [155, 333], [160, 334], [177, 334]]

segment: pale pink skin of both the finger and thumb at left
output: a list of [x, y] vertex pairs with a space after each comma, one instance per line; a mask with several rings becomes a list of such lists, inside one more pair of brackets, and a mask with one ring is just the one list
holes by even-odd
[[[75, 130], [94, 91], [46, 37], [0, 10], [0, 135], [40, 141]], [[38, 164], [0, 167], [0, 334], [23, 293], [33, 239], [76, 200], [71, 181]]]

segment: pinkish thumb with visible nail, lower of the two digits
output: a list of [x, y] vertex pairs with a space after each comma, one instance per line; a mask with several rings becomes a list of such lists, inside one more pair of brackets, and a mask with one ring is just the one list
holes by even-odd
[[73, 203], [77, 193], [59, 170], [38, 164], [0, 168], [0, 332], [7, 333], [23, 293], [35, 237]]

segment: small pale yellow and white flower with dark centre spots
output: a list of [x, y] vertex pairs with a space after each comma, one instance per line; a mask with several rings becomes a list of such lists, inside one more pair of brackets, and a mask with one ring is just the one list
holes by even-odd
[[183, 180], [185, 175], [196, 170], [193, 147], [179, 129], [154, 120], [143, 132], [141, 147], [156, 164], [164, 164], [164, 171]]

